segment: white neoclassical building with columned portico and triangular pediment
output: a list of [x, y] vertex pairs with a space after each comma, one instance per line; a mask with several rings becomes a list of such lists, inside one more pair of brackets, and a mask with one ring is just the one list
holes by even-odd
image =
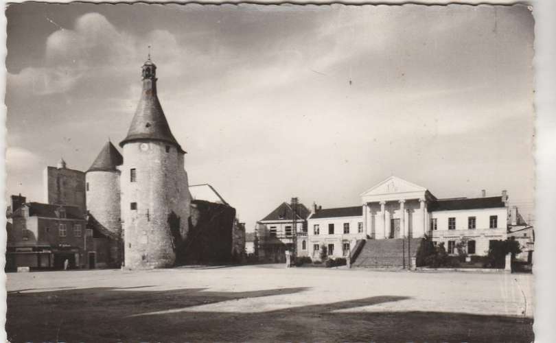
[[500, 196], [437, 198], [425, 187], [391, 176], [360, 194], [361, 205], [315, 209], [308, 217], [313, 258], [343, 257], [360, 239], [431, 237], [450, 254], [463, 244], [468, 255], [486, 255], [490, 241], [506, 239], [511, 213], [506, 191]]

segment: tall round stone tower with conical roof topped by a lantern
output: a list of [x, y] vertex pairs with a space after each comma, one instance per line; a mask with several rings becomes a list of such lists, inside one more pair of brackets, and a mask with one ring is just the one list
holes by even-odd
[[121, 220], [125, 266], [164, 268], [188, 230], [191, 195], [185, 151], [170, 131], [157, 96], [157, 67], [142, 67], [143, 89], [123, 149]]

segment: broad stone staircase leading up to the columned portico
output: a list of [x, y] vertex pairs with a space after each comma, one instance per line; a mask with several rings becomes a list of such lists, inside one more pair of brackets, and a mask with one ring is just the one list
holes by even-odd
[[[416, 257], [422, 238], [409, 239], [409, 258]], [[404, 261], [405, 260], [405, 261]], [[408, 239], [367, 239], [352, 267], [399, 268], [408, 264]]]

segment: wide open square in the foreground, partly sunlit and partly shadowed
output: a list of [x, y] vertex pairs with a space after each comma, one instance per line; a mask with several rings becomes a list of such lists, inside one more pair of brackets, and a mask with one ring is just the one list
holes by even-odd
[[250, 265], [8, 274], [10, 342], [531, 342], [533, 276]]

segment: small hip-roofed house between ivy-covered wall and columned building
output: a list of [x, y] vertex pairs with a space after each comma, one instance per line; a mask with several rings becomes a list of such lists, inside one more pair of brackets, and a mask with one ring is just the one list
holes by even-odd
[[[286, 250], [297, 246], [297, 256], [308, 256], [307, 217], [309, 209], [297, 203], [282, 202], [274, 211], [257, 222], [255, 235], [260, 261], [285, 262]], [[294, 220], [295, 218], [295, 220]]]

